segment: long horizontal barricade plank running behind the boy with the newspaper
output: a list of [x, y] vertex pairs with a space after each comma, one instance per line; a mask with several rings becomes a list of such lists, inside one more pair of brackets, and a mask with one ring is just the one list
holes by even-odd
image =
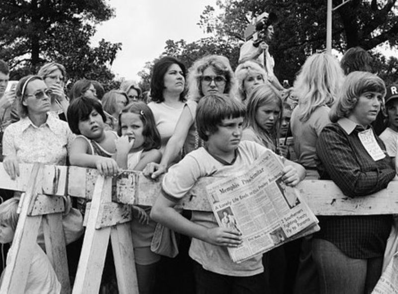
[[[83, 171], [79, 171], [82, 173]], [[93, 172], [90, 171], [91, 175]], [[78, 173], [76, 173], [78, 175]], [[127, 176], [128, 175], [128, 176]], [[74, 175], [71, 175], [71, 179]], [[80, 175], [80, 177], [82, 177]], [[141, 172], [125, 172], [122, 181], [118, 181], [119, 186], [136, 183], [138, 188], [127, 189], [117, 187], [116, 190], [122, 195], [119, 200], [124, 203], [153, 205], [161, 192], [161, 178], [152, 180], [146, 178]], [[86, 177], [86, 179], [89, 179]], [[211, 211], [208, 203], [205, 187], [216, 181], [216, 178], [202, 178], [187, 193], [179, 206], [189, 210]], [[89, 179], [89, 181], [91, 181]], [[86, 183], [85, 187], [90, 187]], [[398, 182], [393, 181], [387, 189], [384, 189], [371, 196], [350, 198], [344, 196], [341, 190], [332, 181], [302, 181], [298, 185], [300, 194], [306, 199], [309, 207], [316, 215], [364, 215], [364, 214], [391, 214], [398, 213]], [[82, 188], [75, 189], [80, 196], [84, 196]], [[91, 190], [86, 190], [90, 195]], [[134, 201], [131, 197], [134, 191]], [[124, 194], [124, 195], [123, 195]], [[73, 195], [75, 196], [75, 195]]]

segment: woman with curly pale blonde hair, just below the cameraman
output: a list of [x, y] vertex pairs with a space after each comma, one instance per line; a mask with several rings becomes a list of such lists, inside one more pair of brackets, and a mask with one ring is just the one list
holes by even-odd
[[236, 67], [235, 78], [238, 83], [240, 99], [246, 104], [246, 98], [249, 96], [253, 87], [264, 84], [267, 79], [267, 74], [260, 64], [253, 60], [248, 60]]

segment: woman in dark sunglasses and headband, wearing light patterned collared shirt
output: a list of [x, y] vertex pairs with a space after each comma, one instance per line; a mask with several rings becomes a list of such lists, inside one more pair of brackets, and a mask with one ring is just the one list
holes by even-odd
[[[4, 169], [11, 179], [19, 176], [19, 163], [40, 162], [48, 165], [66, 165], [70, 144], [74, 139], [68, 124], [49, 115], [52, 91], [40, 76], [22, 78], [16, 87], [20, 120], [10, 124], [4, 131]], [[70, 199], [67, 198], [67, 204]], [[70, 205], [68, 208], [70, 208]], [[83, 219], [80, 212], [67, 209], [65, 228], [67, 243], [76, 240], [83, 233]], [[44, 245], [40, 234], [38, 243]]]

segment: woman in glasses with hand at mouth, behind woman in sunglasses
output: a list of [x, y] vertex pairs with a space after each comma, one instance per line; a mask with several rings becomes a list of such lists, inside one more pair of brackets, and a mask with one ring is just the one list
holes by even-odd
[[52, 91], [50, 112], [66, 121], [66, 111], [68, 110], [69, 101], [64, 92], [66, 79], [65, 67], [56, 62], [46, 63], [39, 69], [37, 75], [42, 77], [47, 88]]

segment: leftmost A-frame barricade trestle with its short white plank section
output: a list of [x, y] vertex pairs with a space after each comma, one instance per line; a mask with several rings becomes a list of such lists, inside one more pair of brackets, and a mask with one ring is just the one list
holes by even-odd
[[[40, 223], [46, 253], [61, 283], [62, 294], [71, 292], [65, 235], [62, 229], [62, 213], [65, 210], [63, 196], [66, 191], [67, 168], [42, 164], [21, 165], [20, 177], [11, 181], [0, 168], [0, 188], [26, 192], [19, 201], [20, 210], [12, 251], [0, 287], [0, 293], [23, 294], [32, 260], [32, 248], [36, 243]], [[47, 196], [47, 195], [50, 196]]]

